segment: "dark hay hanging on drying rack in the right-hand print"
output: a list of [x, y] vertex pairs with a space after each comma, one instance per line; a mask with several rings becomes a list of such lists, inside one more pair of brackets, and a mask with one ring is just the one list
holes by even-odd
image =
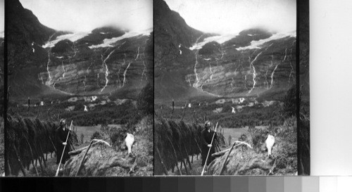
[[[164, 174], [165, 169], [173, 169], [177, 162], [189, 162], [189, 155], [201, 153], [201, 124], [175, 122], [162, 117], [158, 117], [154, 122], [154, 151], [158, 149], [160, 153], [160, 157], [154, 162], [154, 174]], [[216, 141], [223, 143], [222, 134], [218, 133], [218, 138]]]

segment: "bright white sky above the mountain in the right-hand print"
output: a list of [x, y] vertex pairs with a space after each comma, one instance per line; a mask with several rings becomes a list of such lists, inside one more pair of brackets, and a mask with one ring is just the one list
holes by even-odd
[[238, 33], [250, 27], [296, 30], [295, 0], [165, 0], [191, 27], [203, 32]]

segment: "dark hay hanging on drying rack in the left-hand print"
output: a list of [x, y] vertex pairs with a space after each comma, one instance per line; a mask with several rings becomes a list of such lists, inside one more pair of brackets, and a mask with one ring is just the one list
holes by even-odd
[[[20, 162], [29, 167], [34, 160], [44, 160], [44, 153], [53, 153], [53, 139], [58, 127], [53, 122], [44, 122], [39, 119], [8, 116], [8, 128], [6, 129], [6, 158], [12, 175], [18, 175], [20, 165], [15, 149], [18, 152]], [[70, 138], [77, 141], [77, 135]], [[44, 162], [45, 165], [45, 162]]]

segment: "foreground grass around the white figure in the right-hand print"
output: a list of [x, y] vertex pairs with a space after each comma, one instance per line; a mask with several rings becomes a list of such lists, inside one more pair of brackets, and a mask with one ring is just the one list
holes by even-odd
[[[265, 138], [275, 135], [272, 157], [265, 151]], [[287, 119], [284, 124], [268, 129], [249, 129], [241, 136], [248, 147], [234, 148], [225, 164], [227, 175], [294, 175], [297, 172], [296, 117]], [[243, 140], [243, 138], [245, 138]], [[229, 152], [210, 163], [209, 174], [220, 174]]]

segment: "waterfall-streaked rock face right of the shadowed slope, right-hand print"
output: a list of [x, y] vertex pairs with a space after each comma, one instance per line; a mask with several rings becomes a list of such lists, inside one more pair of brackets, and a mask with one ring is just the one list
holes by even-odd
[[249, 41], [248, 46], [232, 44], [241, 36], [240, 33], [223, 44], [211, 41], [208, 44], [213, 47], [206, 44], [195, 49], [194, 71], [184, 78], [189, 86], [217, 96], [257, 96], [268, 91], [283, 91], [294, 83], [295, 37], [273, 34]]

